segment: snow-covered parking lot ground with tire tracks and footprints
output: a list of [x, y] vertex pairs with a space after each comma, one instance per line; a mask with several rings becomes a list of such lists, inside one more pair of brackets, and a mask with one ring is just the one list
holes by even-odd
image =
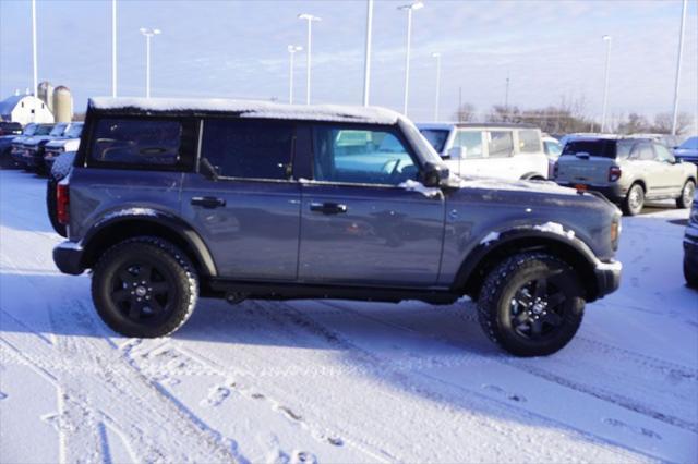
[[116, 337], [53, 266], [44, 185], [0, 171], [0, 462], [698, 460], [685, 210], [625, 219], [621, 291], [516, 359], [471, 303], [202, 301], [172, 338]]

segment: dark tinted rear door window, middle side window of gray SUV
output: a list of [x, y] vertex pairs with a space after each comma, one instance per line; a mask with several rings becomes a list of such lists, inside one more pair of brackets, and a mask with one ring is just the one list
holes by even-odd
[[209, 119], [201, 156], [224, 178], [288, 180], [293, 133], [286, 122]]

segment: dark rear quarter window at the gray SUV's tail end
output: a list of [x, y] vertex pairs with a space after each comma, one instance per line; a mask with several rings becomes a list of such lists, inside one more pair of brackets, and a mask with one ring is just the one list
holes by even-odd
[[[118, 119], [97, 121], [89, 162], [95, 166], [173, 169], [192, 158], [194, 124], [174, 119]], [[184, 156], [184, 146], [190, 146]]]

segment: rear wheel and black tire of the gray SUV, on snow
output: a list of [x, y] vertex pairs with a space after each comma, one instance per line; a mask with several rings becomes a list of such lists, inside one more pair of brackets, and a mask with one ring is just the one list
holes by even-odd
[[198, 277], [191, 261], [157, 237], [140, 236], [112, 246], [93, 270], [97, 313], [125, 337], [172, 333], [192, 315], [197, 295]]

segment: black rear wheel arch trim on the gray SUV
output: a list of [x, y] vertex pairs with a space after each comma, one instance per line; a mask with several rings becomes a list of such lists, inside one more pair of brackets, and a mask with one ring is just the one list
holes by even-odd
[[186, 254], [200, 274], [217, 276], [210, 251], [198, 233], [181, 219], [160, 211], [117, 216], [97, 222], [81, 241], [84, 249], [81, 266], [85, 269], [92, 268], [101, 253], [110, 246], [142, 235], [167, 240]]

